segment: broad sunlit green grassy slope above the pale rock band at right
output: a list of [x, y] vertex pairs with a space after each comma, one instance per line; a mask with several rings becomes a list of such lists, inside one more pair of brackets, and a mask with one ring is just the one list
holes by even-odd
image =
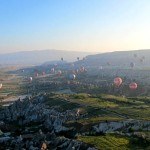
[[[143, 98], [129, 99], [113, 95], [89, 94], [56, 94], [47, 99], [49, 106], [57, 105], [65, 109], [80, 109], [88, 114], [88, 120], [82, 122], [98, 122], [101, 120], [145, 119], [150, 120], [150, 104]], [[143, 100], [144, 99], [144, 100]]]

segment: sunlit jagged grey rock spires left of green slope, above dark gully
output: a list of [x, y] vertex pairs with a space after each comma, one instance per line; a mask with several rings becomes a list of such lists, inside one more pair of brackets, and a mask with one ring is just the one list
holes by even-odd
[[44, 103], [43, 96], [36, 100], [26, 98], [18, 100], [1, 112], [0, 119], [3, 121], [18, 121], [25, 125], [31, 122], [41, 122], [46, 128], [54, 128], [56, 132], [66, 130], [63, 123], [66, 120], [75, 119], [75, 112], [58, 112], [55, 108], [49, 108]]

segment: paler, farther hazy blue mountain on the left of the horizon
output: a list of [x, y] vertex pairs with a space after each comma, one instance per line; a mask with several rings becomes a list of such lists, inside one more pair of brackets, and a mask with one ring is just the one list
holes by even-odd
[[79, 51], [65, 51], [65, 50], [35, 50], [22, 51], [8, 54], [0, 54], [0, 64], [25, 64], [36, 65], [47, 61], [58, 61], [61, 57], [65, 61], [75, 61], [77, 57], [83, 58], [90, 53]]

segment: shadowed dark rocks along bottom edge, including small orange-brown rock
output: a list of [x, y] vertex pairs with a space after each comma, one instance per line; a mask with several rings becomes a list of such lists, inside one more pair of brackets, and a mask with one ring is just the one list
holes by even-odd
[[54, 133], [39, 133], [33, 135], [32, 138], [25, 135], [16, 138], [5, 138], [5, 141], [2, 143], [5, 143], [2, 145], [2, 149], [13, 148], [15, 150], [23, 148], [29, 150], [55, 150], [56, 148], [57, 150], [96, 150], [83, 142], [65, 137], [57, 137]]

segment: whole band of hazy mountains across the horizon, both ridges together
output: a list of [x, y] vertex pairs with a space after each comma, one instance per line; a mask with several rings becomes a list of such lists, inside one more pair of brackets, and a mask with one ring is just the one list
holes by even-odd
[[[150, 49], [133, 51], [114, 51], [100, 54], [90, 52], [65, 51], [65, 50], [35, 50], [0, 54], [0, 64], [39, 65], [61, 61], [76, 62], [87, 66], [129, 66], [131, 62], [136, 66], [150, 67]], [[86, 57], [83, 61], [82, 58]]]

